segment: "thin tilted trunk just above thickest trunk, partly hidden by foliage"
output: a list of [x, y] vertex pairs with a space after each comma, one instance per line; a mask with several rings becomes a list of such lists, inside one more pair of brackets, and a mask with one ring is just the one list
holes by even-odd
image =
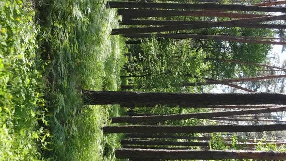
[[[286, 75], [273, 75], [273, 76], [262, 76], [262, 77], [253, 77], [253, 78], [237, 78], [237, 79], [226, 79], [226, 80], [219, 80], [219, 81], [182, 83], [181, 86], [190, 87], [190, 86], [201, 86], [201, 85], [211, 85], [211, 84], [226, 84], [226, 83], [235, 83], [235, 82], [270, 80], [270, 79], [285, 78], [285, 77]], [[121, 89], [122, 90], [134, 89], [134, 86], [133, 85], [121, 85]]]

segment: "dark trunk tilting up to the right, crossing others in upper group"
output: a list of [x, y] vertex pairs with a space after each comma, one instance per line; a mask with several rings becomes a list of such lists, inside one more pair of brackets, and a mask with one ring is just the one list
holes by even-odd
[[229, 26], [232, 26], [234, 24], [239, 24], [239, 23], [257, 23], [257, 22], [263, 22], [263, 21], [275, 21], [275, 20], [284, 20], [284, 19], [286, 19], [286, 15], [243, 18], [243, 19], [236, 19], [236, 20], [228, 20], [228, 21], [220, 21], [220, 22], [206, 22], [206, 23], [187, 24], [187, 25], [143, 27], [143, 28], [122, 28], [122, 29], [112, 29], [111, 34], [170, 32], [170, 31], [191, 30], [191, 29], [211, 28], [211, 27], [229, 27]]

